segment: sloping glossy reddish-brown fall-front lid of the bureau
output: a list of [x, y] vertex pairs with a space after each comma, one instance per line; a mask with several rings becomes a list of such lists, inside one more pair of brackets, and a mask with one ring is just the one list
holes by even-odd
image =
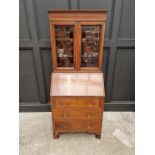
[[52, 73], [51, 96], [105, 96], [103, 73]]

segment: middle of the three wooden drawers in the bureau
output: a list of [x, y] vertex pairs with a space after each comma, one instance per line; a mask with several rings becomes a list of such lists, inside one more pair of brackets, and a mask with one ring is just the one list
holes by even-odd
[[101, 119], [102, 110], [53, 110], [53, 116], [55, 119]]

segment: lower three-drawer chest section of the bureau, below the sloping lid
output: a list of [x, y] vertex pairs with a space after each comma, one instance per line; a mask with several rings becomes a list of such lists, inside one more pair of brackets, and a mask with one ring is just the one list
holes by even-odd
[[101, 131], [104, 98], [53, 97], [51, 102], [54, 131]]

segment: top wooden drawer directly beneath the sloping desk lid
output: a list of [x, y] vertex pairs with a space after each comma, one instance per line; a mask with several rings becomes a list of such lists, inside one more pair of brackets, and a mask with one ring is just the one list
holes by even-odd
[[100, 98], [79, 98], [79, 97], [65, 97], [57, 98], [53, 102], [53, 108], [77, 108], [77, 107], [99, 107]]

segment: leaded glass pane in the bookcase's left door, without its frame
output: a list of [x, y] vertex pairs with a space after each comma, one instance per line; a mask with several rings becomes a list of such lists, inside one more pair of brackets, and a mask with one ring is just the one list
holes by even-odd
[[72, 25], [55, 26], [58, 67], [73, 67], [73, 28]]

